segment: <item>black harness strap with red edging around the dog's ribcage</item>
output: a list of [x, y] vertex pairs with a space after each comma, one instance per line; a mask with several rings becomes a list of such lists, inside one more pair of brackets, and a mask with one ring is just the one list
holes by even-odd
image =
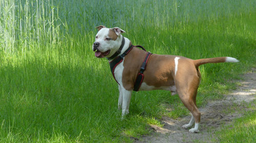
[[147, 61], [148, 59], [150, 59], [150, 56], [152, 55], [151, 52], [147, 52], [146, 56], [145, 56], [145, 59], [144, 59], [144, 62], [142, 63], [141, 67], [140, 67], [140, 72], [138, 73], [138, 76], [136, 78], [136, 81], [134, 83], [134, 91], [139, 91], [140, 89], [140, 86], [141, 86], [141, 83], [144, 79], [144, 74], [143, 72], [146, 70], [146, 64], [147, 64]]

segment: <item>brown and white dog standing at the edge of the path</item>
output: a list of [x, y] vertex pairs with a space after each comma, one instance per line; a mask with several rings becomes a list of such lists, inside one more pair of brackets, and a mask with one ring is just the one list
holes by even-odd
[[[98, 33], [93, 43], [93, 50], [97, 58], [110, 58], [116, 53], [122, 44], [125, 33], [119, 27], [106, 28], [97, 26]], [[131, 46], [131, 41], [124, 38], [123, 48], [118, 55], [121, 55]], [[129, 113], [134, 83], [140, 67], [147, 52], [138, 48], [132, 48], [131, 51], [123, 57], [114, 69], [114, 77], [119, 86], [118, 108], [122, 109], [122, 116]], [[113, 60], [109, 59], [110, 62]], [[178, 94], [183, 104], [192, 113], [191, 120], [182, 127], [187, 129], [195, 123], [195, 127], [189, 132], [199, 132], [199, 123], [201, 113], [197, 108], [196, 96], [200, 84], [201, 74], [199, 66], [207, 63], [221, 62], [239, 62], [230, 57], [219, 57], [209, 59], [191, 60], [178, 55], [160, 55], [152, 54], [148, 59], [144, 79], [140, 86], [143, 90], [167, 90]]]

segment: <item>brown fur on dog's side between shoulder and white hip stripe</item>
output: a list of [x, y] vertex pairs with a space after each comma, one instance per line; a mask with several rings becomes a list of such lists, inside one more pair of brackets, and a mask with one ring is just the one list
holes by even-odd
[[[122, 83], [126, 90], [133, 90], [134, 83], [144, 61], [146, 52], [133, 48], [124, 58]], [[144, 79], [147, 85], [168, 87], [174, 85], [175, 55], [152, 54], [144, 71]]]

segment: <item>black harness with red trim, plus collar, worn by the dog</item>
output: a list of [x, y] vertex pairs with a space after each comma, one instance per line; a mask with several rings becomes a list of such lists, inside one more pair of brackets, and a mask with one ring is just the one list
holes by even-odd
[[[124, 45], [124, 38], [122, 39], [122, 44], [121, 44], [121, 46], [120, 46], [120, 48], [118, 49], [118, 51], [117, 52], [119, 52], [118, 54], [120, 54], [121, 53], [121, 50], [122, 50], [122, 48], [123, 48], [123, 45]], [[129, 46], [129, 48], [126, 50], [126, 51], [124, 51], [121, 55], [119, 55], [119, 56], [117, 56], [116, 57], [116, 55], [118, 55], [118, 54], [116, 54], [116, 53], [114, 53], [113, 55], [115, 55], [115, 56], [111, 56], [110, 58], [108, 58], [108, 60], [111, 60], [111, 59], [113, 59], [113, 58], [115, 58], [113, 61], [111, 61], [111, 62], [109, 62], [110, 63], [110, 69], [111, 69], [111, 72], [112, 72], [112, 75], [113, 75], [113, 77], [114, 77], [114, 79], [116, 80], [116, 78], [115, 78], [115, 74], [114, 74], [114, 71], [115, 71], [115, 68], [116, 68], [116, 66], [118, 65], [118, 64], [120, 64], [122, 61], [123, 61], [123, 57], [126, 55], [126, 54], [128, 54], [132, 49], [133, 49], [133, 47], [140, 47], [141, 49], [143, 49], [144, 51], [146, 51], [142, 46], [140, 46], [140, 45], [137, 45], [137, 46], [134, 46], [134, 45], [131, 45], [131, 46]], [[145, 58], [144, 58], [144, 62], [142, 63], [142, 65], [141, 65], [141, 68], [140, 68], [140, 72], [138, 73], [138, 76], [137, 76], [137, 78], [136, 78], [136, 81], [135, 81], [135, 83], [134, 83], [134, 91], [139, 91], [139, 89], [140, 89], [140, 85], [141, 85], [141, 83], [142, 83], [142, 81], [143, 81], [143, 79], [144, 79], [144, 74], [143, 74], [143, 72], [146, 70], [146, 64], [147, 64], [147, 61], [148, 61], [148, 59], [150, 59], [150, 56], [151, 56], [151, 52], [147, 52], [147, 54], [146, 54], [146, 56], [145, 56]], [[117, 82], [117, 80], [116, 80], [116, 82]], [[118, 83], [118, 82], [117, 82]], [[118, 83], [119, 84], [119, 83]]]

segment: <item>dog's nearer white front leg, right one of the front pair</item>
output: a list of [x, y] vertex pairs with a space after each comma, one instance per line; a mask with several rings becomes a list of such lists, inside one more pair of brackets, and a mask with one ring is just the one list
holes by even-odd
[[130, 106], [130, 101], [132, 97], [132, 91], [127, 91], [124, 88], [122, 89], [122, 117], [127, 115], [129, 113], [129, 106]]

